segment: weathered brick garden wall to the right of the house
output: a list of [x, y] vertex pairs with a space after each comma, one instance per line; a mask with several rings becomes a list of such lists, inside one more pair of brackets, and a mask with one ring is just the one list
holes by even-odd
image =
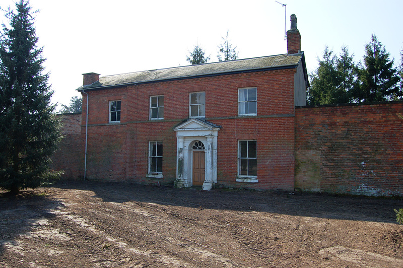
[[295, 186], [403, 195], [403, 103], [296, 108]]

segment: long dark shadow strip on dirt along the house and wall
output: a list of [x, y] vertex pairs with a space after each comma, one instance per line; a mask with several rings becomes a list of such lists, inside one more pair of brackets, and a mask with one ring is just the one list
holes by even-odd
[[[301, 217], [396, 223], [401, 198], [340, 196], [284, 191], [175, 189], [126, 182], [59, 181], [54, 187], [93, 191], [104, 202], [143, 202], [167, 206], [264, 212]], [[196, 213], [196, 212], [195, 212]]]

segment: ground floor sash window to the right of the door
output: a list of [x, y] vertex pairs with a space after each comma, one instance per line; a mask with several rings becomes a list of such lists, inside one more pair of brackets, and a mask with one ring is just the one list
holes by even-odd
[[256, 141], [238, 142], [238, 177], [257, 177]]

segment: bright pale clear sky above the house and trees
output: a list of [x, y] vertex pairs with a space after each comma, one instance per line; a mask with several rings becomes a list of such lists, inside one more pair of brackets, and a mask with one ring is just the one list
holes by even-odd
[[[15, 9], [16, 0], [0, 0]], [[84, 73], [101, 76], [184, 66], [198, 44], [217, 61], [217, 46], [229, 30], [239, 58], [287, 53], [284, 26], [297, 16], [308, 72], [325, 45], [343, 45], [362, 59], [375, 34], [395, 64], [403, 49], [402, 0], [30, 0], [39, 46], [50, 73], [53, 102], [69, 104]], [[286, 22], [285, 22], [286, 19]], [[0, 21], [6, 22], [0, 11]]]

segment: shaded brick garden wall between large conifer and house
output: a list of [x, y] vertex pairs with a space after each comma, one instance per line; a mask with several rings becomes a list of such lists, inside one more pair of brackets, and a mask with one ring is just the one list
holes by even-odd
[[51, 157], [51, 168], [63, 170], [62, 178], [83, 178], [85, 129], [82, 133], [81, 113], [64, 113], [57, 116], [63, 124], [63, 138], [59, 149]]

